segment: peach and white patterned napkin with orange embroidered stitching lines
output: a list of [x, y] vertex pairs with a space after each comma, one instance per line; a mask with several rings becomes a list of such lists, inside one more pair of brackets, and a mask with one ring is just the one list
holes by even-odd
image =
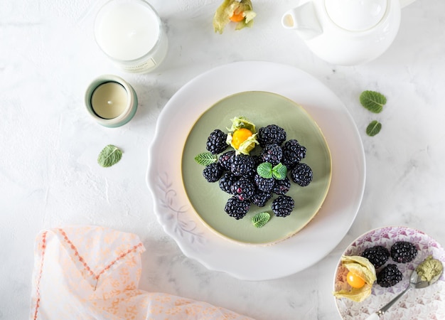
[[137, 235], [109, 228], [41, 231], [30, 319], [252, 320], [206, 302], [138, 289], [144, 251]]

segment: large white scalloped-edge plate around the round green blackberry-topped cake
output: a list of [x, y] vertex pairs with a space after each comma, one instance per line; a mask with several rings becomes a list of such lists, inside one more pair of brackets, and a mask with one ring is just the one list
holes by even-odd
[[[247, 91], [277, 93], [304, 107], [331, 151], [331, 187], [322, 208], [299, 233], [275, 245], [243, 245], [213, 233], [193, 210], [181, 178], [183, 146], [200, 115]], [[146, 180], [159, 223], [186, 256], [239, 279], [276, 279], [323, 259], [348, 232], [365, 188], [365, 155], [348, 110], [323, 83], [289, 65], [247, 61], [203, 73], [171, 97], [158, 119]]]

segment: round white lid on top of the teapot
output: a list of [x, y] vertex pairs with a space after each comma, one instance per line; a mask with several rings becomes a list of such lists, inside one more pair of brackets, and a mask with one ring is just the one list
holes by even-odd
[[348, 31], [365, 31], [385, 15], [387, 0], [325, 0], [331, 20]]

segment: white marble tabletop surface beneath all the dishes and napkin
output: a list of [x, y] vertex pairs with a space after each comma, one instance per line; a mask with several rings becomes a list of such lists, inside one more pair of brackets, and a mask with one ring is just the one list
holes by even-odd
[[[280, 18], [296, 0], [253, 2], [253, 28], [228, 26], [219, 35], [211, 21], [220, 1], [151, 0], [170, 48], [161, 68], [146, 75], [122, 73], [98, 50], [95, 1], [1, 2], [0, 319], [28, 317], [34, 238], [44, 228], [95, 224], [136, 233], [147, 248], [141, 289], [259, 320], [338, 319], [331, 295], [336, 263], [372, 228], [407, 225], [445, 245], [445, 2], [417, 0], [404, 8], [390, 49], [355, 67], [319, 60], [282, 28]], [[185, 257], [157, 223], [145, 182], [147, 150], [168, 99], [196, 75], [242, 60], [301, 68], [336, 92], [360, 130], [367, 161], [362, 206], [336, 249], [309, 269], [264, 282], [241, 281]], [[139, 96], [136, 116], [124, 127], [101, 127], [85, 112], [84, 91], [104, 73], [126, 79]], [[375, 116], [360, 106], [363, 90], [387, 96], [384, 112]], [[372, 119], [383, 128], [368, 137]], [[103, 169], [97, 154], [110, 143], [124, 157]]]

